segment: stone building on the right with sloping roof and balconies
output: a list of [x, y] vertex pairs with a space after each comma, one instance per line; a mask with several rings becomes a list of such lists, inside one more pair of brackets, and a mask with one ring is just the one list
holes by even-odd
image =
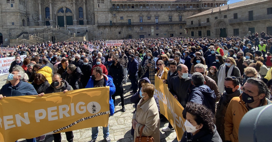
[[[189, 37], [272, 35], [272, 0], [244, 0], [186, 18]], [[250, 31], [250, 32], [249, 32]], [[260, 37], [260, 36], [259, 36]]]

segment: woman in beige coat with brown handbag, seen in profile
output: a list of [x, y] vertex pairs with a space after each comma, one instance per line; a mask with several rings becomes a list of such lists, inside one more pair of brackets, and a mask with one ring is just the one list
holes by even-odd
[[139, 93], [142, 98], [132, 117], [132, 127], [135, 130], [133, 141], [140, 136], [142, 126], [144, 126], [142, 136], [151, 136], [155, 142], [160, 141], [160, 118], [158, 107], [153, 97], [154, 90], [153, 84], [142, 84]]

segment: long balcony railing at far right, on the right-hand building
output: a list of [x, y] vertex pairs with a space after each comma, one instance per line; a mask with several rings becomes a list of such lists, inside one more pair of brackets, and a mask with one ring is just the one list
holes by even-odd
[[247, 22], [247, 21], [256, 21], [256, 20], [265, 20], [271, 19], [272, 14], [270, 15], [255, 15], [253, 17], [241, 17], [237, 19], [228, 19], [228, 23], [238, 23], [238, 22]]

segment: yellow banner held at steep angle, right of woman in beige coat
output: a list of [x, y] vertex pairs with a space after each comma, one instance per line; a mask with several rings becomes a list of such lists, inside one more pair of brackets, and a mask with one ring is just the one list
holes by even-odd
[[176, 137], [181, 140], [185, 131], [185, 119], [182, 116], [183, 107], [169, 92], [166, 84], [155, 76], [155, 95], [159, 98], [160, 113], [163, 114], [176, 131]]

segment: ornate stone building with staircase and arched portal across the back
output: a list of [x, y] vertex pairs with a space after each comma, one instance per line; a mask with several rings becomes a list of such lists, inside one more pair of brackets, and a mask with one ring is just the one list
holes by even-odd
[[[64, 37], [57, 39], [53, 33], [59, 30], [87, 34], [89, 39], [185, 36], [184, 18], [226, 4], [226, 0], [0, 0], [0, 43], [8, 45], [14, 38], [32, 41], [29, 35], [59, 41]], [[50, 31], [46, 38], [39, 36]]]

